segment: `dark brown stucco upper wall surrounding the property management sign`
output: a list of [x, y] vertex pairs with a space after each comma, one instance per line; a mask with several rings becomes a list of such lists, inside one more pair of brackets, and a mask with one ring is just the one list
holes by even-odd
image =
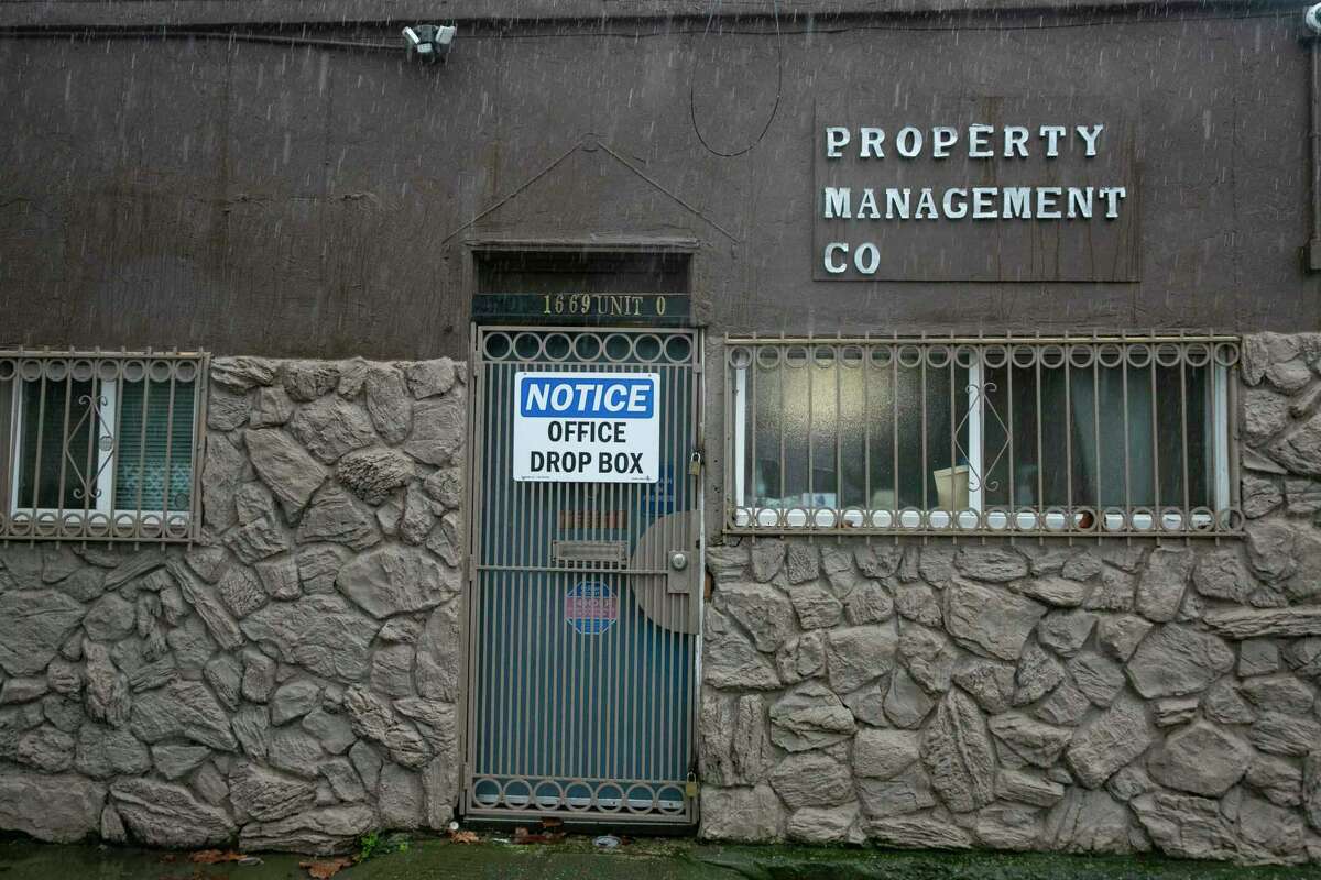
[[[148, 21], [143, 4], [66, 5], [50, 15]], [[297, 20], [238, 5], [248, 13], [177, 13]], [[781, 37], [765, 18], [708, 26], [709, 4], [688, 9], [695, 21], [629, 22], [601, 20], [622, 15], [613, 1], [538, 21], [546, 5], [513, 30], [461, 22], [435, 67], [221, 40], [0, 41], [0, 343], [462, 356], [465, 247], [493, 240], [691, 239], [694, 310], [717, 332], [1321, 321], [1321, 278], [1299, 259], [1301, 4], [1279, 17], [1071, 4], [1069, 26], [1041, 28], [1036, 4], [832, 21], [839, 4], [823, 3], [819, 17], [781, 7]], [[312, 36], [396, 41], [399, 25]], [[811, 282], [815, 108], [927, 124], [919, 108], [952, 95], [1089, 95], [1112, 110], [1061, 121], [1136, 119], [1141, 179], [1127, 204], [1141, 214], [1141, 281]], [[694, 120], [720, 153], [756, 146], [719, 156]], [[967, 234], [933, 222], [893, 259], [941, 261]], [[1058, 259], [1041, 247], [1037, 259]]]

